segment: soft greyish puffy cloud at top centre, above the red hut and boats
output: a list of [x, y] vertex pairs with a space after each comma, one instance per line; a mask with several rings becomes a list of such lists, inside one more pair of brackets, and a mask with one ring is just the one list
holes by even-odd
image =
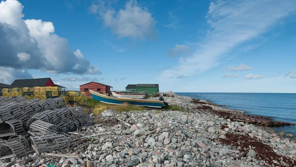
[[89, 10], [93, 14], [99, 14], [104, 25], [120, 38], [141, 38], [154, 35], [156, 20], [148, 12], [147, 8], [138, 5], [137, 0], [126, 2], [125, 8], [115, 11], [111, 7], [105, 7], [103, 0], [99, 4], [92, 4]]

